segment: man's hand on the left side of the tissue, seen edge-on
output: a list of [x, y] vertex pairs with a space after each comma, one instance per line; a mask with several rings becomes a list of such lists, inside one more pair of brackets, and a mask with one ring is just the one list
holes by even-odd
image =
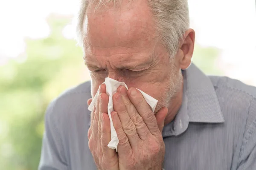
[[[92, 99], [87, 101], [90, 105]], [[98, 170], [119, 170], [118, 156], [108, 147], [111, 141], [110, 119], [108, 117], [108, 95], [106, 86], [99, 86], [97, 102], [91, 112], [91, 124], [88, 130], [88, 145]]]

